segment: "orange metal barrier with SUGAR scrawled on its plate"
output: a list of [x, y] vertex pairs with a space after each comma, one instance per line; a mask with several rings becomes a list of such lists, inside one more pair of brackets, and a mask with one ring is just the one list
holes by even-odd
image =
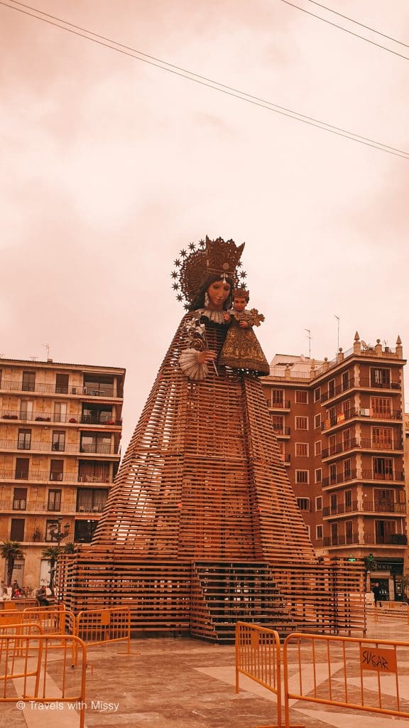
[[[290, 700], [409, 718], [398, 667], [408, 657], [409, 642], [289, 635], [283, 645], [285, 727], [290, 727]], [[297, 668], [291, 677], [295, 689], [290, 689], [289, 665]]]

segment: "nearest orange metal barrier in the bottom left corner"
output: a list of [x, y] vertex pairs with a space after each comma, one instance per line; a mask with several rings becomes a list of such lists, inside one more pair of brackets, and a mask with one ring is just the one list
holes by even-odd
[[[20, 625], [17, 625], [20, 626]], [[15, 636], [5, 635], [0, 639], [0, 684], [3, 689], [0, 703], [19, 703], [20, 710], [35, 709], [37, 703], [63, 703], [79, 711], [79, 728], [84, 728], [85, 670], [87, 649], [75, 636], [60, 636], [62, 656], [60, 685], [47, 675], [49, 649], [54, 638], [49, 635]], [[75, 644], [76, 653], [81, 654], [82, 669], [71, 670], [71, 653]], [[55, 664], [55, 660], [53, 661]], [[63, 706], [64, 707], [64, 706]], [[60, 716], [62, 718], [62, 716]]]

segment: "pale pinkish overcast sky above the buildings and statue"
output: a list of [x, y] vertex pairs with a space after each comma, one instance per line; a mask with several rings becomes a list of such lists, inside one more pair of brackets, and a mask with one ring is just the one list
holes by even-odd
[[[9, 0], [4, 0], [9, 2]], [[282, 0], [33, 0], [148, 55], [409, 151], [409, 63]], [[409, 58], [409, 48], [293, 0]], [[9, 2], [9, 4], [13, 4]], [[15, 4], [15, 7], [23, 8]], [[409, 44], [407, 0], [327, 7]], [[404, 353], [409, 160], [0, 4], [0, 355], [127, 368], [130, 439], [183, 308], [180, 248], [246, 242], [258, 338]], [[406, 397], [409, 398], [409, 395]], [[409, 409], [409, 405], [407, 405]]]

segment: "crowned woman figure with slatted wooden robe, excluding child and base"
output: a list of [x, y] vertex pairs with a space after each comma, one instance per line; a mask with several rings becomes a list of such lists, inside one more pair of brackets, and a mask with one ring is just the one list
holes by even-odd
[[172, 559], [314, 558], [261, 382], [218, 365], [223, 312], [245, 277], [244, 243], [221, 238], [175, 260], [188, 312], [156, 376], [92, 544]]

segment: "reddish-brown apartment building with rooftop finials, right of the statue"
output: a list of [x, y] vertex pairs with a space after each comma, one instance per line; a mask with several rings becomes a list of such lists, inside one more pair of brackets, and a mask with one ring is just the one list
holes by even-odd
[[276, 355], [263, 378], [271, 419], [317, 555], [373, 555], [384, 597], [407, 557], [402, 342], [357, 333], [334, 360]]

